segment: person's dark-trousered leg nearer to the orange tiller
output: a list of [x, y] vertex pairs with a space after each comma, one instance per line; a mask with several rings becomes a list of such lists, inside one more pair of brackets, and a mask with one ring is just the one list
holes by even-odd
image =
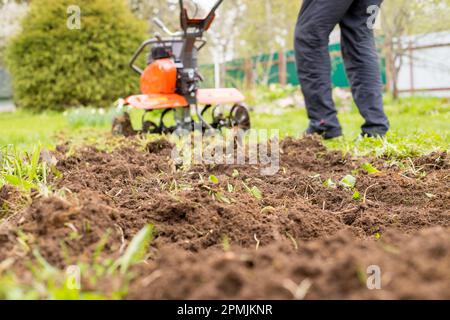
[[342, 134], [331, 88], [328, 42], [354, 0], [304, 0], [295, 29], [298, 77], [310, 120], [308, 133]]

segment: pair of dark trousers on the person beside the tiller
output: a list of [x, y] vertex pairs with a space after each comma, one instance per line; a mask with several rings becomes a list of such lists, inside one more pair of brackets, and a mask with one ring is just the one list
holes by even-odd
[[330, 33], [339, 24], [341, 46], [353, 98], [365, 119], [362, 132], [384, 135], [383, 84], [368, 8], [382, 0], [304, 0], [295, 30], [297, 70], [310, 119], [309, 131], [342, 134], [332, 97]]

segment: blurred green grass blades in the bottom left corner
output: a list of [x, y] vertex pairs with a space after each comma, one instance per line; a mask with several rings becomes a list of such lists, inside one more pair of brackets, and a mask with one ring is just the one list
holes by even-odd
[[[34, 259], [26, 263], [26, 272], [32, 281], [23, 282], [11, 266], [16, 262], [9, 258], [0, 263], [0, 299], [57, 299], [57, 300], [103, 300], [121, 299], [127, 293], [129, 282], [135, 276], [129, 268], [146, 259], [154, 236], [153, 225], [146, 225], [131, 240], [119, 258], [101, 258], [109, 238], [107, 231], [98, 242], [90, 263], [80, 261], [61, 270], [52, 266], [40, 253], [38, 247], [30, 248], [28, 235], [19, 233], [18, 242]], [[101, 284], [105, 279], [116, 279], [109, 292], [82, 289]]]

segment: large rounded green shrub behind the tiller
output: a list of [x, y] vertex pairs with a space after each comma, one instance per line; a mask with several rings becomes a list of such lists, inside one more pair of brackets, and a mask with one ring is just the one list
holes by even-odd
[[[81, 29], [67, 27], [72, 5], [81, 9]], [[128, 61], [145, 34], [125, 0], [32, 1], [7, 48], [16, 104], [36, 111], [108, 107], [138, 92]]]

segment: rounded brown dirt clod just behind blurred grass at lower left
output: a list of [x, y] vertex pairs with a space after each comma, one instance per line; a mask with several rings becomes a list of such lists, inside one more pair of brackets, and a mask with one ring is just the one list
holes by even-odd
[[118, 254], [123, 241], [118, 215], [108, 199], [93, 192], [71, 200], [53, 196], [34, 199], [18, 227], [49, 263], [63, 267], [67, 254], [74, 258], [72, 263], [91, 257], [105, 236], [110, 239], [105, 252]]

